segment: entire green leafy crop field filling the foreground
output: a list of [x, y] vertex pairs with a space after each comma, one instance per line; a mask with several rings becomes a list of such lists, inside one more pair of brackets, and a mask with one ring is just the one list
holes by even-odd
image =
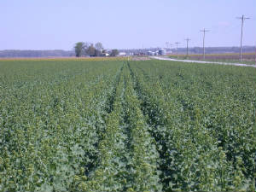
[[256, 69], [0, 61], [0, 191], [254, 191]]

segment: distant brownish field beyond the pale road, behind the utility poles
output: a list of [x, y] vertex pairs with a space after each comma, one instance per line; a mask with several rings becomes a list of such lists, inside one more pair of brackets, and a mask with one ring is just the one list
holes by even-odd
[[[168, 55], [171, 58], [177, 58], [177, 55]], [[186, 55], [178, 55], [179, 59], [186, 59]], [[211, 54], [206, 55], [206, 61], [224, 61], [224, 62], [240, 62], [239, 54]], [[189, 55], [190, 60], [203, 60], [202, 55]], [[243, 53], [241, 63], [255, 64], [255, 53]]]

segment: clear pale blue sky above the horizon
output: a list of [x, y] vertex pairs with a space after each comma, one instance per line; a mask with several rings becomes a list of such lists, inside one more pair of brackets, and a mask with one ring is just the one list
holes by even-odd
[[0, 0], [0, 49], [73, 49], [78, 41], [105, 48], [162, 47], [191, 38], [201, 46], [256, 43], [255, 0]]

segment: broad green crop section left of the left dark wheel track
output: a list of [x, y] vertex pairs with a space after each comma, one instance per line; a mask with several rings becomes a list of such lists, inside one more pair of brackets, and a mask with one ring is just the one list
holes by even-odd
[[73, 189], [95, 167], [120, 63], [1, 65], [0, 191]]

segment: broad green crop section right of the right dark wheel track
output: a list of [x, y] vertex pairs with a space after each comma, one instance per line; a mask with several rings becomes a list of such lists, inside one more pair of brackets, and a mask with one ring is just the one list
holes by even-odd
[[[255, 89], [246, 79], [236, 84], [230, 81], [231, 74], [241, 76], [239, 68], [177, 65], [166, 61], [131, 61], [129, 65], [134, 87], [143, 101], [143, 113], [148, 115], [148, 124], [154, 126], [151, 133], [162, 160], [164, 190], [255, 188]], [[214, 70], [221, 73], [222, 79], [214, 79], [216, 74], [211, 74]], [[236, 91], [239, 88], [238, 94], [247, 96], [246, 102], [219, 91], [234, 84]], [[247, 85], [247, 91], [243, 84]], [[221, 96], [225, 97], [219, 108]], [[212, 114], [214, 108], [218, 111]], [[234, 112], [238, 111], [235, 116]], [[224, 133], [230, 135], [223, 139]]]

